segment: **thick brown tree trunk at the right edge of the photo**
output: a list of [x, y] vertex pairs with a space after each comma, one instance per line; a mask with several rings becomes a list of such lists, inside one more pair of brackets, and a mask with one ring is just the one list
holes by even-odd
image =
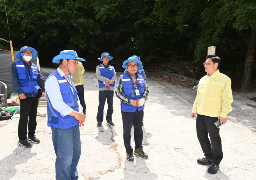
[[251, 82], [251, 70], [252, 63], [255, 54], [255, 44], [256, 44], [256, 29], [251, 31], [251, 38], [248, 44], [248, 49], [246, 53], [245, 63], [244, 63], [244, 74], [242, 79], [241, 90], [250, 89]]

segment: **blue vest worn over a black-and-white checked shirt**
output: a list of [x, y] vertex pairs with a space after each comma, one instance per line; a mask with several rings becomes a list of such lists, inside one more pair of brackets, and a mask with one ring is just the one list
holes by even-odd
[[[141, 99], [142, 95], [144, 93], [144, 89], [145, 89], [145, 82], [144, 82], [142, 75], [138, 75], [138, 77], [137, 77], [137, 89], [139, 89], [140, 95], [135, 95], [135, 96], [132, 95], [132, 89], [135, 92], [135, 87], [134, 87], [133, 81], [130, 79], [128, 73], [122, 74], [122, 75], [120, 75], [120, 77], [122, 79], [124, 95], [126, 95], [128, 98], [134, 99], [134, 100]], [[144, 106], [145, 106], [145, 104], [141, 107], [136, 107], [133, 105], [128, 105], [128, 104], [124, 103], [123, 101], [121, 101], [121, 111], [124, 111], [127, 113], [133, 113], [137, 110], [137, 108], [139, 111], [141, 111], [144, 109]]]

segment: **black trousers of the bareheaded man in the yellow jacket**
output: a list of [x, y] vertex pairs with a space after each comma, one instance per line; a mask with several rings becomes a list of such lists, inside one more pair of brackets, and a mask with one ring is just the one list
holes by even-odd
[[[212, 158], [213, 162], [219, 165], [223, 158], [223, 152], [221, 146], [220, 128], [217, 128], [214, 124], [216, 121], [218, 121], [217, 117], [197, 114], [196, 133], [204, 156]], [[208, 133], [211, 142], [209, 141]]]

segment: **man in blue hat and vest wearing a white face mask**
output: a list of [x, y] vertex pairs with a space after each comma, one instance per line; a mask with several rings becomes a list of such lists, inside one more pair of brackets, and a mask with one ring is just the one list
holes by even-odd
[[[45, 97], [45, 81], [36, 65], [30, 60], [35, 58], [37, 52], [34, 48], [24, 46], [16, 53], [19, 61], [13, 62], [11, 66], [11, 79], [13, 91], [19, 94], [20, 120], [18, 126], [18, 145], [31, 147], [27, 142], [39, 143], [35, 137], [36, 113], [38, 107], [38, 90], [42, 88], [41, 97]], [[28, 137], [27, 137], [28, 129]]]

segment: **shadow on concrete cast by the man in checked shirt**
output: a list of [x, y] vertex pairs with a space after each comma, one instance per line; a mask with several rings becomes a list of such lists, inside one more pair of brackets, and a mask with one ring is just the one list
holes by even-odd
[[124, 160], [124, 170], [122, 180], [131, 180], [131, 179], [147, 179], [147, 180], [155, 180], [158, 176], [149, 171], [148, 166], [146, 165], [146, 160], [148, 158], [141, 158], [139, 156], [134, 155], [134, 161]]

